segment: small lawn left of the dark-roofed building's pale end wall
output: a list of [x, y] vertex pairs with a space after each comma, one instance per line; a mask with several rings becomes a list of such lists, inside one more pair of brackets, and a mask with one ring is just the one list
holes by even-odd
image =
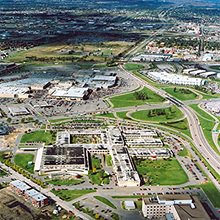
[[34, 155], [33, 154], [16, 154], [14, 158], [14, 162], [19, 167], [27, 170], [30, 173], [34, 173], [34, 164], [28, 165], [28, 162], [33, 162]]

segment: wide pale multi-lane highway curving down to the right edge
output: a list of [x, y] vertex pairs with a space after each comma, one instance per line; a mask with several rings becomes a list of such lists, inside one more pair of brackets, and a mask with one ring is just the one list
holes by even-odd
[[[136, 80], [137, 82], [139, 82], [141, 86], [145, 86], [151, 89], [153, 92], [155, 92], [156, 94], [159, 94], [160, 96], [164, 98], [171, 97], [170, 95], [167, 95], [165, 91], [150, 85], [149, 83], [142, 80], [141, 78], [138, 78], [132, 73], [126, 71], [123, 68], [123, 66], [120, 66], [120, 68], [121, 70], [125, 71], [131, 78], [133, 78], [133, 80]], [[202, 154], [202, 156], [206, 159], [206, 161], [210, 164], [210, 166], [217, 173], [219, 173], [220, 172], [220, 156], [216, 154], [216, 152], [212, 149], [212, 147], [209, 145], [206, 138], [204, 137], [197, 115], [194, 113], [194, 111], [191, 108], [189, 108], [185, 104], [182, 105], [180, 110], [184, 113], [184, 115], [188, 119], [193, 142], [197, 150]], [[220, 184], [215, 180], [215, 178], [212, 175], [209, 175], [209, 176], [214, 182], [214, 184], [216, 185], [216, 187], [220, 190]]]

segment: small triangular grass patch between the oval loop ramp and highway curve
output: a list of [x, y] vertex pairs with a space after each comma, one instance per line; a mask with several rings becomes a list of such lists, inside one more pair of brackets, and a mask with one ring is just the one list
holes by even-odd
[[187, 119], [183, 119], [178, 122], [161, 123], [161, 125], [175, 129], [176, 131], [179, 131], [179, 132], [191, 137], [191, 133], [189, 130], [189, 124], [188, 124]]

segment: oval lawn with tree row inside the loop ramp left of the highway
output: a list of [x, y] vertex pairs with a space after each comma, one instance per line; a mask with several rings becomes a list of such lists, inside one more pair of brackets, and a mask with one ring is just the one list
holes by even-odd
[[183, 113], [175, 106], [163, 109], [141, 110], [131, 114], [131, 117], [141, 121], [171, 122], [183, 117]]

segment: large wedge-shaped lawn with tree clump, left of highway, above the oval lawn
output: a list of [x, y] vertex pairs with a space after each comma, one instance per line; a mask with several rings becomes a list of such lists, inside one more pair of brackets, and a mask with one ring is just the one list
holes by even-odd
[[[143, 98], [141, 96], [143, 96]], [[164, 99], [161, 96], [146, 87], [141, 90], [110, 98], [110, 102], [114, 108], [138, 106], [146, 103], [160, 103], [163, 101]]]

